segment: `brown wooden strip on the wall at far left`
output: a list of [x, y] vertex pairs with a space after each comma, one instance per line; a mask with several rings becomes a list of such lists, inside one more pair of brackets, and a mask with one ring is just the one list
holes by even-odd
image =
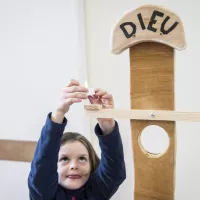
[[0, 140], [0, 160], [31, 162], [37, 142]]

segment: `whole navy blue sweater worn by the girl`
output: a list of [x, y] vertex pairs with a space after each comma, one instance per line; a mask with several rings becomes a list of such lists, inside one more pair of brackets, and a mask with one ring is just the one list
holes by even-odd
[[97, 170], [79, 189], [68, 190], [58, 184], [57, 162], [61, 138], [67, 125], [51, 120], [48, 114], [42, 128], [31, 170], [28, 187], [31, 200], [108, 200], [126, 178], [124, 152], [118, 123], [109, 135], [102, 135], [97, 124], [95, 134], [101, 148], [101, 161]]

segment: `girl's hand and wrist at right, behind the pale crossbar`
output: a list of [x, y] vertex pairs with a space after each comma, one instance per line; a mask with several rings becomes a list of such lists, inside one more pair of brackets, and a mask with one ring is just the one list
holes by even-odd
[[[113, 109], [114, 101], [112, 94], [102, 89], [95, 89], [93, 96], [88, 96], [91, 104], [100, 104], [104, 109]], [[109, 134], [115, 127], [115, 121], [112, 118], [97, 118], [99, 126], [104, 134]]]

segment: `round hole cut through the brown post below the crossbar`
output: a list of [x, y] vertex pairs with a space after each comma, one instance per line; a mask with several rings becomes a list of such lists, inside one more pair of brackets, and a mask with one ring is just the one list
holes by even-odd
[[144, 128], [140, 135], [142, 148], [152, 154], [164, 154], [169, 147], [169, 137], [167, 132], [157, 125], [150, 125]]

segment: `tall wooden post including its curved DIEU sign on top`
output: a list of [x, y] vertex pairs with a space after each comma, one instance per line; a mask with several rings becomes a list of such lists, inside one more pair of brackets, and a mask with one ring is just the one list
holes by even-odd
[[[185, 48], [183, 25], [172, 12], [142, 6], [127, 13], [113, 29], [112, 52], [129, 48], [131, 109], [174, 110], [174, 48]], [[153, 155], [140, 144], [149, 125], [165, 129], [169, 147]], [[175, 122], [131, 120], [135, 200], [174, 200]]]

